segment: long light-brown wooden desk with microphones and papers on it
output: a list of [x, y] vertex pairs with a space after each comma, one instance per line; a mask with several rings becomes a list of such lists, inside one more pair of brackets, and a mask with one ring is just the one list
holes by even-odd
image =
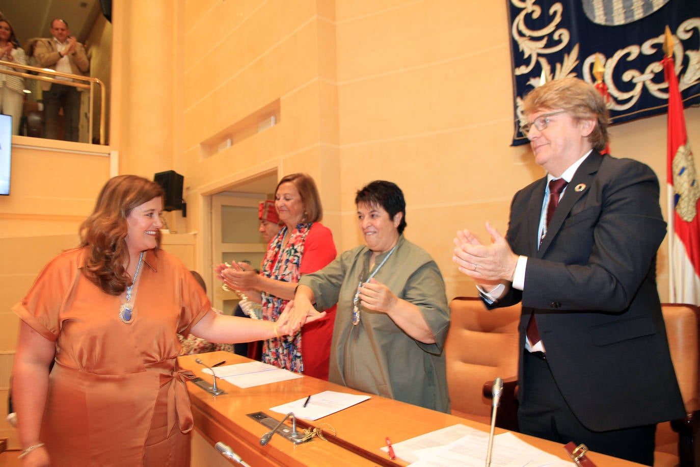
[[[182, 368], [193, 370], [195, 375], [202, 377], [206, 381], [211, 381], [211, 375], [202, 372], [204, 367], [196, 363], [195, 358], [201, 358], [207, 365], [213, 365], [223, 360], [227, 362], [227, 365], [251, 361], [248, 358], [225, 351], [179, 358]], [[362, 391], [355, 391], [345, 386], [339, 386], [338, 384], [308, 376], [247, 389], [241, 389], [221, 379], [218, 380], [217, 384], [226, 391], [226, 394], [215, 397], [194, 383], [188, 382], [192, 411], [195, 418], [195, 429], [211, 446], [221, 441], [231, 447], [244, 461], [253, 467], [328, 465], [333, 467], [360, 467], [377, 465], [331, 442], [316, 438], [311, 442], [294, 446], [292, 442], [279, 435], [274, 435], [267, 445], [261, 446], [259, 442], [260, 436], [269, 431], [269, 429], [258, 423], [258, 421], [247, 417], [247, 414], [259, 411], [265, 412], [270, 417], [279, 420], [283, 415], [272, 412], [272, 410], [269, 410], [269, 407], [304, 398], [309, 394], [321, 391], [363, 393]], [[384, 446], [384, 438], [387, 436], [391, 438], [392, 442], [398, 443], [454, 424], [464, 424], [482, 431], [489, 431], [490, 428], [488, 425], [454, 415], [443, 414], [374, 395], [363, 403], [313, 421], [311, 424], [316, 426], [330, 424], [337, 431], [338, 438], [352, 442], [354, 445], [375, 452], [380, 456], [386, 456], [379, 448]], [[500, 428], [496, 428], [496, 434], [503, 433], [503, 431]], [[533, 446], [559, 456], [561, 459], [570, 460], [563, 446], [556, 442], [520, 433], [514, 434]], [[589, 458], [598, 467], [638, 465], [603, 454], [589, 454]], [[232, 463], [233, 465], [239, 465]], [[407, 465], [407, 463], [399, 459], [395, 461], [395, 464], [397, 466]], [[193, 466], [195, 465], [197, 465], [197, 459], [193, 456]]]

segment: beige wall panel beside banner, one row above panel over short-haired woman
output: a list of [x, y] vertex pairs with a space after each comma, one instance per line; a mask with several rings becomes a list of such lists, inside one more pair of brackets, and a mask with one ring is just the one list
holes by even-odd
[[[507, 48], [500, 50], [507, 54]], [[484, 53], [491, 57], [493, 50]], [[341, 144], [441, 131], [493, 120], [510, 121], [507, 68], [488, 80], [469, 83], [476, 57], [353, 81], [339, 86]], [[507, 124], [510, 130], [510, 124]], [[483, 139], [482, 139], [483, 141]], [[510, 139], [505, 139], [507, 146]]]

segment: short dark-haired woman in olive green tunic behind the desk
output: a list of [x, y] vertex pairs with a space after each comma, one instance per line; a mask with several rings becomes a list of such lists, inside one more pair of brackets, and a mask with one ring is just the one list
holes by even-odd
[[398, 186], [374, 181], [355, 201], [365, 245], [302, 277], [290, 325], [300, 326], [311, 307], [337, 303], [331, 382], [449, 412], [442, 274], [426, 251], [403, 237], [405, 201]]

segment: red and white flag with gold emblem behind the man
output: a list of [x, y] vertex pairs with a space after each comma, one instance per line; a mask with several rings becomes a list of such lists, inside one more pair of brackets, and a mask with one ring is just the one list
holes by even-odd
[[668, 82], [668, 263], [670, 301], [700, 305], [700, 186], [687, 137], [673, 56], [664, 57]]

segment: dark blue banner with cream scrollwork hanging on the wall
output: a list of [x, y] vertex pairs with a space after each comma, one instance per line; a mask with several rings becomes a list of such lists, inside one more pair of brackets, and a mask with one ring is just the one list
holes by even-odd
[[700, 103], [700, 0], [507, 0], [513, 67], [512, 145], [520, 132], [524, 95], [546, 81], [577, 76], [596, 83], [603, 65], [612, 124], [668, 107], [663, 43], [673, 34], [675, 71], [685, 106]]

